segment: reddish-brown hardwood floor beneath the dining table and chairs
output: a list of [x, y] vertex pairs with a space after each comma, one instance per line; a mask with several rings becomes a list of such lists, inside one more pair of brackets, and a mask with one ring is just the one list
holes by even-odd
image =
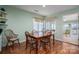
[[[47, 48], [44, 50], [40, 48], [38, 51], [39, 54], [79, 54], [79, 46], [75, 46], [69, 43], [55, 41], [55, 45], [52, 46], [50, 50]], [[3, 48], [2, 54], [30, 54], [30, 48], [25, 49], [25, 42], [21, 43], [19, 47], [18, 44], [15, 46], [10, 46], [10, 48]], [[31, 52], [31, 54], [35, 54], [35, 50]]]

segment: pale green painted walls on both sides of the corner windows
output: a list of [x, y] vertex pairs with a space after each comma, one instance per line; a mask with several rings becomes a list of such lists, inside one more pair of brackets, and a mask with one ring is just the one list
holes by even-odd
[[[19, 34], [18, 37], [20, 41], [25, 41], [24, 32], [32, 30], [33, 17], [40, 16], [40, 15], [27, 12], [11, 6], [0, 6], [0, 7], [4, 7], [6, 9], [7, 18], [8, 18], [8, 21], [6, 23], [8, 25], [7, 28], [12, 29], [15, 33]], [[57, 25], [57, 33], [59, 34], [57, 34], [56, 36], [59, 39], [61, 39], [63, 34], [63, 30], [61, 30], [63, 25], [62, 16], [66, 14], [72, 14], [72, 13], [79, 13], [79, 7], [49, 15], [49, 16], [57, 17], [58, 23], [56, 25]]]

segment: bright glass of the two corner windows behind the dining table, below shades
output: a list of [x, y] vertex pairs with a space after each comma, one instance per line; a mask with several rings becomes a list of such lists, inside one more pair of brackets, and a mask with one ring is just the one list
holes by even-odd
[[[40, 20], [40, 19], [39, 19]], [[44, 31], [44, 30], [56, 30], [56, 22], [52, 21], [33, 21], [33, 29], [36, 31]]]

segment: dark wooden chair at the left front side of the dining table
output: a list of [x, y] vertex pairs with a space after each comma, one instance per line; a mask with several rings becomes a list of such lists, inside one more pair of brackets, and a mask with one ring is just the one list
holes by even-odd
[[30, 36], [28, 31], [25, 32], [26, 36], [26, 49], [30, 47], [30, 53], [32, 50], [36, 49], [36, 40]]

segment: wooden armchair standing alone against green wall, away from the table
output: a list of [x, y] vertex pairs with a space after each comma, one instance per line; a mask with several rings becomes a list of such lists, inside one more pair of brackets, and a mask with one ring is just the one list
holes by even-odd
[[11, 29], [5, 30], [4, 34], [7, 39], [6, 47], [9, 47], [10, 45], [14, 46], [15, 42], [17, 42], [18, 45], [20, 46], [19, 38], [17, 37], [18, 34], [15, 34]]

